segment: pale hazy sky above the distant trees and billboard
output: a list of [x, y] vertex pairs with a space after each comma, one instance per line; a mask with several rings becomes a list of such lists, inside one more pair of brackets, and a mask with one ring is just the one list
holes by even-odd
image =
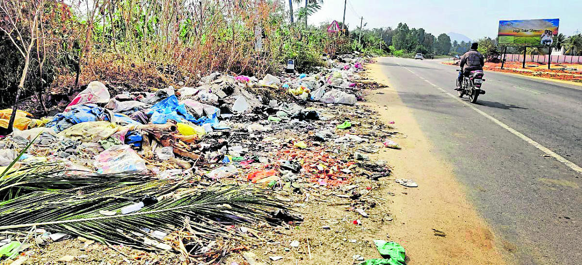
[[[285, 1], [289, 5], [289, 1]], [[324, 0], [308, 23], [342, 22], [344, 0]], [[559, 33], [582, 33], [582, 0], [347, 0], [346, 24], [350, 29], [392, 27], [406, 23], [427, 33], [460, 33], [477, 40], [496, 37], [499, 20], [560, 19]]]

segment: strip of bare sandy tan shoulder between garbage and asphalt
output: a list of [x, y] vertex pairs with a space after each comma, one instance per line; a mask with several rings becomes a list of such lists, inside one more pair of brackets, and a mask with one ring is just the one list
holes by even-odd
[[[390, 85], [378, 64], [370, 65], [368, 77]], [[395, 88], [368, 93], [370, 108], [380, 119], [395, 120], [406, 138], [395, 139], [402, 150], [379, 153], [393, 166], [393, 178], [415, 180], [418, 188], [395, 184], [392, 197], [394, 224], [385, 227], [391, 239], [406, 247], [410, 264], [502, 264], [495, 237], [485, 221], [467, 201], [452, 166], [432, 152], [430, 141], [420, 130]], [[434, 230], [441, 231], [444, 237]]]

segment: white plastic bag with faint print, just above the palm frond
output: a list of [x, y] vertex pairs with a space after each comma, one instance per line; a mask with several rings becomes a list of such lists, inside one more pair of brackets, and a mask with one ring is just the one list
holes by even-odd
[[129, 145], [117, 145], [95, 157], [93, 166], [98, 173], [111, 174], [145, 169], [143, 160]]

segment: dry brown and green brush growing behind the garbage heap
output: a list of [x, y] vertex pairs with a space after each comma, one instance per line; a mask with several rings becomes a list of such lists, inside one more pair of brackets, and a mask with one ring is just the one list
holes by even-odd
[[286, 0], [1, 1], [0, 106], [32, 96], [46, 114], [93, 80], [159, 88], [214, 71], [263, 76], [287, 59], [302, 73], [323, 66], [322, 53], [385, 51], [347, 26], [332, 34], [308, 25], [322, 1], [293, 3], [289, 12]]

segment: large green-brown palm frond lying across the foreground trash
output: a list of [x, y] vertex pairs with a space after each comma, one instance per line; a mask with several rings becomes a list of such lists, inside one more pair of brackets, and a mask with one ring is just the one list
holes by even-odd
[[[181, 198], [162, 199], [138, 212], [120, 214], [120, 209], [144, 195], [154, 195], [172, 186], [169, 181], [157, 181], [115, 188], [97, 184], [81, 195], [77, 188], [33, 192], [0, 206], [0, 230], [36, 225], [102, 243], [155, 249], [144, 242], [145, 238], [157, 239], [144, 230], [171, 232], [182, 227], [188, 218], [190, 227], [200, 238], [231, 238], [233, 232], [226, 229], [226, 224], [265, 220], [268, 212], [284, 207], [260, 190], [217, 187], [194, 191]], [[105, 216], [101, 214], [103, 210], [116, 214]]]

